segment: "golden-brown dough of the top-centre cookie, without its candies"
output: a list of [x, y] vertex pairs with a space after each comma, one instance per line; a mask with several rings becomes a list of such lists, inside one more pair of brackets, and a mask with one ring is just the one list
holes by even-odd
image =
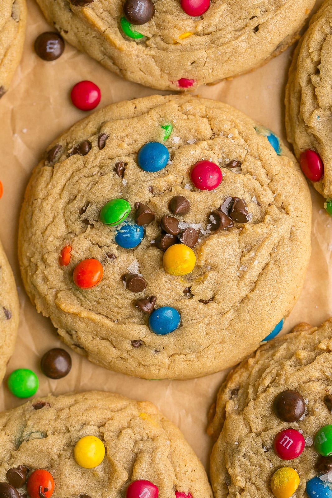
[[134, 26], [144, 38], [133, 40], [119, 27], [122, 0], [94, 0], [86, 7], [68, 0], [37, 2], [76, 48], [127, 80], [161, 90], [181, 90], [181, 78], [195, 80], [194, 86], [217, 83], [262, 65], [298, 38], [315, 4], [216, 0], [202, 16], [191, 17], [179, 0], [156, 0], [152, 19]]

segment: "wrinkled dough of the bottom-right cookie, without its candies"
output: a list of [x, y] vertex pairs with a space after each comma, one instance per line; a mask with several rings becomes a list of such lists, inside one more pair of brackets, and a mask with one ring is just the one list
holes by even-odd
[[[306, 482], [317, 475], [314, 467], [320, 456], [314, 436], [331, 423], [324, 397], [332, 394], [332, 319], [319, 328], [300, 324], [295, 330], [261, 346], [221, 386], [208, 429], [218, 438], [210, 468], [215, 498], [273, 497], [271, 477], [284, 465], [300, 476], [293, 497], [307, 496]], [[306, 400], [303, 420], [287, 423], [274, 414], [273, 400], [286, 389]], [[273, 450], [275, 435], [287, 428], [302, 430], [306, 440], [303, 453], [290, 461]]]

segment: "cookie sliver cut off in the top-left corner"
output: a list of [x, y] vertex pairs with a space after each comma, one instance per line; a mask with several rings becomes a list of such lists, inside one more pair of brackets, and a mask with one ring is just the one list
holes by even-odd
[[0, 2], [0, 97], [8, 90], [21, 59], [26, 23], [25, 0]]

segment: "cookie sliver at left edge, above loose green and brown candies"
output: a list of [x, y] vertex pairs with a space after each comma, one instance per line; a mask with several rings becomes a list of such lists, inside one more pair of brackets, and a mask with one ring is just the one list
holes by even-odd
[[19, 303], [14, 275], [0, 242], [0, 382], [17, 336]]

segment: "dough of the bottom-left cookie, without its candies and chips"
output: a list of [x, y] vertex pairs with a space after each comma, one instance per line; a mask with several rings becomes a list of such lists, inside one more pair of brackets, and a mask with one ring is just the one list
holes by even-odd
[[[2, 482], [9, 468], [25, 465], [52, 474], [54, 498], [122, 498], [138, 479], [154, 483], [159, 498], [175, 491], [212, 498], [203, 465], [181, 431], [148, 401], [99, 391], [50, 395], [1, 413], [0, 427]], [[94, 469], [73, 457], [76, 442], [88, 435], [106, 448]]]

